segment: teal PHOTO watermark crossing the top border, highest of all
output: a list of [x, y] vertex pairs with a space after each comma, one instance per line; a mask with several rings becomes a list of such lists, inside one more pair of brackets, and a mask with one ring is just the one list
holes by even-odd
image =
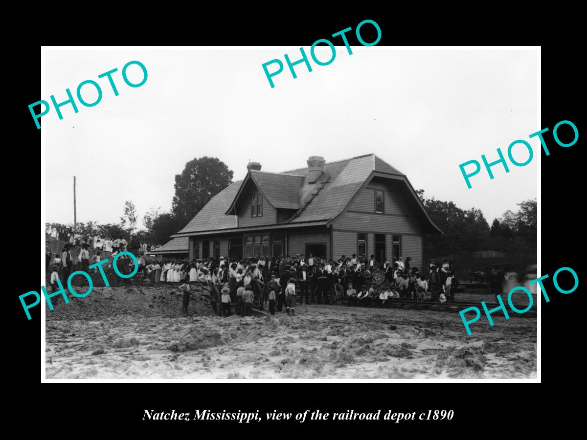
[[[362, 28], [362, 26], [364, 26], [366, 24], [372, 25], [373, 27], [375, 27], [375, 30], [377, 31], [377, 38], [373, 42], [370, 42], [370, 43], [367, 43], [362, 38], [361, 32], [360, 32], [360, 29]], [[352, 31], [352, 30], [353, 30], [352, 28], [346, 28], [346, 29], [343, 29], [342, 31], [339, 31], [339, 32], [332, 34], [333, 37], [340, 36], [340, 38], [342, 38], [342, 40], [346, 46], [346, 51], [349, 53], [349, 55], [353, 55], [353, 51], [352, 51], [352, 49], [350, 49], [349, 40], [346, 38], [345, 34], [349, 31]], [[375, 46], [377, 43], [379, 43], [379, 40], [381, 40], [381, 28], [373, 20], [363, 20], [362, 22], [360, 22], [359, 25], [357, 25], [355, 33], [357, 36], [357, 40], [359, 40], [359, 43], [361, 43], [363, 46]], [[330, 51], [332, 52], [332, 55], [330, 55], [329, 60], [325, 60], [325, 59], [319, 60], [318, 57], [316, 57], [316, 53], [315, 53], [316, 46], [319, 44], [325, 44], [325, 45], [329, 46]], [[292, 77], [294, 77], [294, 79], [296, 79], [298, 77], [298, 75], [296, 75], [296, 72], [294, 70], [294, 66], [297, 66], [298, 64], [304, 63], [306, 65], [306, 67], [308, 68], [308, 72], [312, 72], [312, 65], [310, 64], [310, 60], [308, 59], [308, 55], [306, 55], [305, 50], [303, 50], [303, 48], [299, 48], [299, 51], [301, 52], [302, 57], [301, 57], [301, 59], [296, 60], [294, 62], [292, 62], [292, 60], [289, 59], [289, 55], [287, 53], [284, 54], [285, 62], [287, 63], [287, 65], [289, 67], [289, 72], [291, 72]], [[310, 56], [311, 56], [313, 62], [316, 63], [318, 66], [328, 66], [336, 58], [336, 49], [330, 40], [327, 40], [325, 38], [321, 38], [321, 39], [313, 42], [312, 47], [310, 48]], [[274, 70], [272, 67], [271, 70], [274, 70], [274, 72], [269, 73], [268, 66], [272, 65], [272, 64], [276, 64], [277, 69]], [[267, 80], [269, 81], [269, 85], [273, 89], [275, 87], [275, 84], [274, 84], [272, 78], [276, 75], [279, 75], [279, 73], [284, 71], [284, 63], [282, 63], [280, 59], [273, 59], [271, 61], [263, 63], [261, 65], [261, 67], [263, 67], [263, 71], [265, 72], [265, 76], [267, 77]]]

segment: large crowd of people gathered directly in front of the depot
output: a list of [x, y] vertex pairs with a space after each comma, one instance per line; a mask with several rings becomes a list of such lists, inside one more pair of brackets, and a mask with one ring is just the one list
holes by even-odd
[[[254, 307], [269, 313], [295, 314], [296, 304], [333, 304], [347, 299], [348, 306], [386, 306], [393, 300], [416, 301], [454, 300], [458, 285], [451, 263], [446, 260], [436, 267], [429, 265], [427, 276], [418, 268], [410, 267], [411, 258], [399, 257], [394, 263], [379, 263], [373, 255], [369, 259], [351, 258], [345, 255], [338, 260], [316, 258], [312, 254], [253, 258], [227, 262], [220, 259], [154, 261], [144, 266], [144, 276], [151, 282], [181, 282], [184, 295], [184, 313], [190, 298], [190, 283], [201, 283], [218, 288], [220, 307], [227, 316], [235, 313], [246, 316]], [[375, 270], [384, 272], [383, 283], [372, 282]]]

